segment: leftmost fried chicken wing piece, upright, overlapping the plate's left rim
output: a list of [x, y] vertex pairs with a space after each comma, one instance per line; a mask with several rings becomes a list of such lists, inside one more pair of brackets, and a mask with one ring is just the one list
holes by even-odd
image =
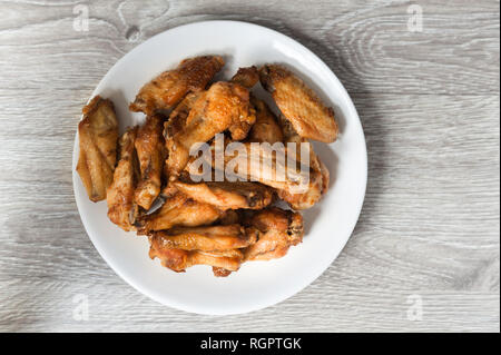
[[117, 160], [118, 122], [114, 103], [96, 96], [82, 109], [78, 125], [80, 155], [77, 172], [91, 201], [106, 198]]

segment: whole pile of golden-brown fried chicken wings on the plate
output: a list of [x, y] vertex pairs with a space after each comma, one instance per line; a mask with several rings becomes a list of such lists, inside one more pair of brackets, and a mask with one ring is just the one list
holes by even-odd
[[[212, 82], [223, 66], [219, 56], [189, 58], [143, 86], [129, 109], [146, 120], [121, 137], [114, 103], [99, 96], [84, 108], [78, 127], [77, 171], [90, 200], [106, 199], [109, 219], [147, 236], [149, 256], [175, 272], [209, 265], [215, 276], [228, 276], [245, 262], [283, 257], [303, 239], [298, 210], [328, 188], [328, 170], [310, 139], [336, 139], [333, 109], [281, 65], [240, 68], [229, 81]], [[250, 92], [258, 82], [279, 115]], [[242, 142], [247, 160], [264, 158], [252, 149], [256, 142], [308, 145], [306, 188], [295, 189], [298, 165], [287, 167], [285, 179], [274, 178], [279, 161], [264, 167], [269, 174], [237, 169], [236, 180], [194, 179], [193, 146], [214, 146], [218, 134], [224, 146]], [[276, 207], [279, 199], [292, 209]]]

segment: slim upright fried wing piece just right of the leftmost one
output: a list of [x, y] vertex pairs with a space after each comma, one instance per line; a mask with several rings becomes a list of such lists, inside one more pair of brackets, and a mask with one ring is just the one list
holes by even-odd
[[120, 158], [115, 169], [114, 181], [108, 187], [108, 218], [121, 229], [135, 230], [138, 208], [134, 203], [134, 191], [139, 179], [139, 167], [134, 148], [137, 127], [129, 128], [119, 140]]

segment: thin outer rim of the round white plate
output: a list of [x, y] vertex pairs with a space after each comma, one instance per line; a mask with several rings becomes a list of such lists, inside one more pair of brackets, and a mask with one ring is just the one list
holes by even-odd
[[[268, 299], [272, 298], [271, 302], [254, 303], [250, 306], [246, 306], [245, 309], [242, 309], [242, 310], [214, 312], [214, 309], [212, 309], [212, 310], [207, 312], [207, 310], [204, 309], [204, 307], [193, 306], [193, 305], [188, 305], [188, 304], [181, 304], [179, 302], [176, 302], [173, 298], [165, 297], [165, 295], [159, 295], [157, 292], [155, 292], [153, 289], [148, 289], [148, 288], [145, 288], [145, 287], [140, 286], [138, 283], [136, 283], [136, 280], [132, 277], [129, 277], [128, 275], [122, 273], [120, 267], [118, 267], [118, 265], [115, 265], [114, 262], [110, 262], [110, 259], [106, 256], [107, 253], [104, 250], [104, 248], [98, 246], [99, 243], [97, 240], [95, 240], [95, 237], [92, 237], [91, 233], [89, 233], [89, 229], [91, 229], [91, 227], [90, 227], [90, 225], [88, 226], [88, 224], [90, 224], [90, 223], [88, 220], [86, 220], [86, 218], [82, 216], [82, 207], [80, 206], [79, 197], [77, 197], [77, 191], [76, 191], [76, 184], [78, 184], [78, 174], [75, 170], [76, 164], [78, 161], [78, 151], [79, 151], [78, 127], [76, 129], [77, 132], [76, 132], [76, 136], [75, 136], [73, 151], [72, 151], [72, 165], [71, 165], [71, 167], [72, 167], [71, 172], [72, 172], [73, 197], [75, 197], [75, 201], [77, 204], [77, 209], [78, 209], [78, 214], [80, 216], [80, 220], [81, 220], [81, 223], [84, 225], [84, 228], [85, 228], [85, 230], [87, 233], [87, 236], [89, 237], [89, 239], [92, 243], [92, 245], [96, 248], [96, 250], [99, 253], [101, 258], [106, 262], [106, 264], [121, 279], [124, 279], [127, 284], [132, 286], [137, 292], [139, 292], [143, 295], [148, 296], [149, 298], [154, 299], [155, 302], [158, 302], [161, 305], [165, 305], [165, 306], [168, 306], [168, 307], [173, 307], [175, 309], [180, 309], [180, 310], [184, 310], [184, 312], [188, 312], [188, 313], [200, 314], [200, 315], [217, 315], [217, 316], [247, 314], [247, 313], [250, 313], [250, 312], [256, 312], [256, 310], [259, 310], [259, 309], [264, 309], [266, 307], [274, 306], [274, 305], [276, 305], [278, 303], [282, 303], [282, 302], [288, 299], [289, 297], [296, 295], [301, 290], [305, 289], [312, 283], [314, 283], [322, 274], [324, 274], [325, 270], [336, 260], [336, 258], [340, 256], [340, 254], [344, 250], [344, 248], [346, 247], [347, 241], [350, 240], [350, 238], [353, 235], [353, 231], [355, 229], [356, 224], [360, 220], [360, 216], [361, 216], [361, 213], [362, 213], [362, 209], [363, 209], [363, 205], [364, 205], [364, 200], [365, 200], [365, 194], [366, 194], [366, 188], [367, 188], [367, 175], [369, 175], [366, 140], [365, 140], [365, 135], [364, 135], [362, 121], [360, 119], [358, 112], [356, 110], [356, 107], [355, 107], [352, 98], [350, 97], [347, 90], [345, 89], [345, 87], [343, 86], [341, 80], [337, 78], [337, 76], [334, 73], [334, 71], [317, 55], [315, 55], [312, 50], [310, 50], [307, 47], [305, 47], [303, 43], [301, 43], [299, 41], [295, 40], [294, 38], [291, 38], [291, 37], [284, 34], [284, 33], [282, 33], [282, 32], [278, 32], [277, 30], [267, 28], [265, 26], [256, 24], [256, 23], [253, 23], [253, 22], [246, 22], [246, 21], [237, 21], [237, 20], [195, 21], [195, 22], [189, 22], [189, 23], [185, 23], [185, 24], [180, 24], [180, 26], [176, 26], [176, 27], [166, 29], [166, 30], [164, 30], [164, 31], [161, 31], [161, 32], [159, 32], [159, 33], [148, 38], [147, 40], [145, 40], [140, 45], [136, 46], [135, 48], [132, 48], [131, 50], [126, 52], [121, 58], [119, 58], [111, 66], [111, 68], [108, 69], [108, 71], [99, 80], [99, 83], [94, 89], [94, 91], [91, 93], [91, 97], [88, 99], [88, 101], [90, 101], [90, 99], [98, 93], [98, 91], [99, 91], [98, 89], [102, 85], [105, 78], [112, 70], [115, 70], [117, 67], [119, 67], [124, 61], [126, 61], [130, 53], [136, 52], [136, 51], [140, 51], [141, 48], [146, 46], [147, 42], [150, 42], [150, 41], [154, 41], [154, 40], [158, 40], [159, 37], [161, 37], [163, 34], [165, 34], [166, 32], [169, 32], [169, 31], [181, 30], [181, 29], [185, 29], [185, 28], [188, 28], [188, 27], [205, 26], [205, 24], [215, 24], [215, 26], [217, 26], [217, 24], [232, 24], [232, 26], [254, 27], [257, 30], [265, 31], [265, 32], [268, 32], [268, 33], [271, 33], [273, 36], [276, 36], [281, 40], [285, 40], [286, 42], [293, 43], [296, 47], [299, 47], [303, 51], [307, 52], [312, 57], [312, 59], [314, 59], [316, 61], [316, 63], [320, 65], [322, 67], [322, 69], [330, 75], [330, 77], [331, 77], [330, 79], [334, 80], [334, 81], [336, 81], [338, 83], [340, 93], [344, 97], [344, 100], [346, 101], [347, 107], [348, 107], [348, 109], [351, 111], [351, 116], [354, 116], [354, 118], [356, 118], [356, 120], [354, 119], [354, 121], [356, 121], [356, 125], [358, 126], [357, 131], [358, 131], [358, 135], [361, 136], [360, 137], [360, 141], [361, 141], [361, 145], [362, 145], [362, 148], [363, 148], [362, 149], [363, 150], [363, 156], [361, 157], [361, 158], [363, 158], [363, 161], [360, 161], [360, 168], [361, 168], [361, 170], [363, 169], [363, 171], [361, 171], [361, 172], [363, 172], [363, 175], [362, 175], [363, 191], [361, 194], [361, 199], [358, 201], [358, 206], [356, 206], [356, 218], [354, 218], [354, 221], [352, 223], [352, 225], [348, 226], [347, 229], [350, 230], [350, 233], [347, 234], [346, 238], [344, 240], [342, 240], [342, 247], [340, 248], [340, 250], [338, 252], [334, 250], [333, 255], [331, 255], [331, 257], [330, 257], [331, 262], [327, 265], [323, 266], [320, 272], [312, 273], [313, 276], [310, 276], [306, 282], [297, 283], [296, 286], [292, 287], [293, 290], [287, 293], [287, 295], [285, 295], [285, 296], [281, 294], [279, 296], [268, 297]], [[80, 118], [80, 120], [81, 120], [81, 118]], [[351, 122], [351, 124], [355, 124], [355, 122]]]

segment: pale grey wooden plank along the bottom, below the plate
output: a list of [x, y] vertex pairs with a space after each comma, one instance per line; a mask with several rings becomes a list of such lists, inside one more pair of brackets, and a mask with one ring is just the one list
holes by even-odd
[[[328, 277], [324, 275], [322, 278]], [[4, 289], [11, 292], [6, 295]], [[88, 321], [73, 318], [87, 297]], [[421, 321], [410, 321], [406, 292], [315, 283], [286, 303], [250, 315], [200, 316], [161, 307], [117, 278], [92, 284], [0, 280], [2, 331], [43, 332], [499, 332], [499, 296], [422, 292]], [[77, 302], [75, 302], [77, 300]], [[411, 318], [413, 319], [413, 318]]]

